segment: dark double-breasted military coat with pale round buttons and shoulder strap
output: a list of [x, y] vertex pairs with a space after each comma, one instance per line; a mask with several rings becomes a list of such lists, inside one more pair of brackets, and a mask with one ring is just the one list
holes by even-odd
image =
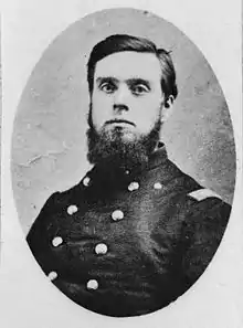
[[75, 303], [126, 317], [155, 311], [203, 273], [231, 207], [168, 158], [146, 168], [95, 166], [46, 201], [28, 243], [50, 279]]

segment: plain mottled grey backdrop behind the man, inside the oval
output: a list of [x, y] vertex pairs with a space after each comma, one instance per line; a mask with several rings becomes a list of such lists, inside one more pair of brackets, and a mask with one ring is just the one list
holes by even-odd
[[207, 60], [162, 19], [133, 9], [107, 10], [86, 17], [57, 36], [23, 91], [12, 136], [12, 186], [24, 233], [47, 197], [77, 183], [88, 169], [86, 62], [92, 47], [114, 33], [149, 38], [158, 47], [172, 51], [179, 96], [162, 133], [169, 158], [232, 202], [233, 129]]

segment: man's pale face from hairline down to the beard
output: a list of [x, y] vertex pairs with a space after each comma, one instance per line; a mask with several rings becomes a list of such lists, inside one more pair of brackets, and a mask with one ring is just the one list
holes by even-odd
[[97, 133], [120, 131], [126, 141], [148, 135], [160, 118], [161, 67], [151, 53], [119, 52], [96, 64], [92, 121]]

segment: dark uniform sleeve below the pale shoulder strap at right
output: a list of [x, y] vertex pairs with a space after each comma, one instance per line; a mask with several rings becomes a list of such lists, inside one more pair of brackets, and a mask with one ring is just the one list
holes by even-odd
[[214, 195], [193, 199], [182, 232], [182, 272], [188, 285], [192, 285], [211, 262], [230, 212], [231, 207]]

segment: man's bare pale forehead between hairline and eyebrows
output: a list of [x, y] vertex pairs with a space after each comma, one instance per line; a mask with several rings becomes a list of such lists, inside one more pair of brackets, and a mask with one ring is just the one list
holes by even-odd
[[118, 80], [140, 77], [159, 82], [161, 67], [154, 53], [125, 51], [110, 54], [97, 62], [95, 80], [103, 76], [114, 76]]

